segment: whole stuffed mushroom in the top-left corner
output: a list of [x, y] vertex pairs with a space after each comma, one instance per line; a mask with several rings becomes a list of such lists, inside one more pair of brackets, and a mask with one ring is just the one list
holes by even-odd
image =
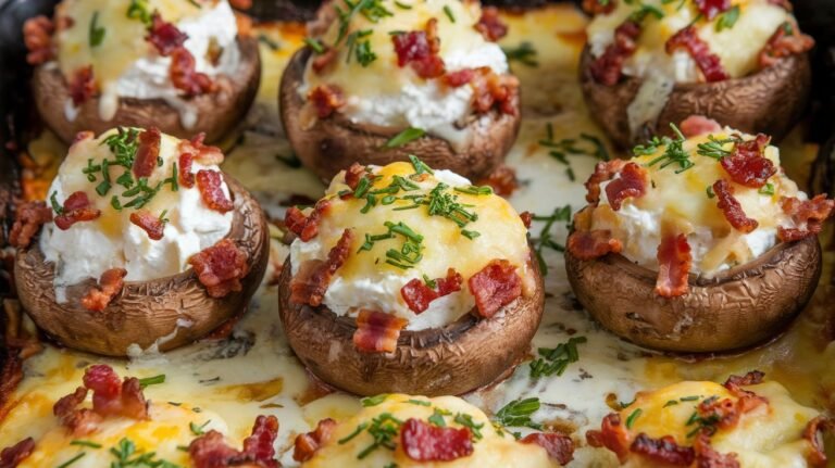
[[226, 0], [64, 0], [26, 22], [33, 91], [65, 142], [79, 131], [154, 125], [215, 141], [246, 114], [258, 42]]

